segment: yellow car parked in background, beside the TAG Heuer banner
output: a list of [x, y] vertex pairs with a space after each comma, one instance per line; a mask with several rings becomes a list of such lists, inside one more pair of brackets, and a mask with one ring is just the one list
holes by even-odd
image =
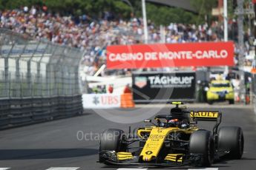
[[214, 101], [229, 101], [229, 104], [234, 104], [234, 88], [230, 81], [211, 81], [206, 97], [209, 104]]

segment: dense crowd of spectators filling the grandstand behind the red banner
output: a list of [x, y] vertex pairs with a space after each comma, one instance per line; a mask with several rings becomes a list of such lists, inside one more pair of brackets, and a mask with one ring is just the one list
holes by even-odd
[[[0, 28], [85, 50], [83, 64], [89, 75], [93, 75], [105, 63], [106, 46], [142, 43], [142, 23], [142, 18], [124, 21], [108, 17], [93, 20], [88, 15], [60, 16], [47, 11], [47, 7], [0, 11]], [[198, 26], [171, 23], [162, 30], [164, 31], [148, 21], [149, 42], [183, 43], [220, 41], [223, 38], [223, 26], [217, 21], [213, 21], [211, 25]]]

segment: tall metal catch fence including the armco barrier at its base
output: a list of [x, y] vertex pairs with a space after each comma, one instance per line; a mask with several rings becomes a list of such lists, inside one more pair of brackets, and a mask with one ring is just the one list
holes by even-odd
[[0, 129], [82, 113], [82, 52], [0, 30]]

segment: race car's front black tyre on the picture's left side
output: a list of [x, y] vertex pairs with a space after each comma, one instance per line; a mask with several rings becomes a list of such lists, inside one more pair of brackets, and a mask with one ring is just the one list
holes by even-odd
[[115, 151], [126, 152], [125, 134], [120, 129], [107, 129], [103, 132], [99, 143], [99, 162], [103, 162], [100, 156], [102, 152]]

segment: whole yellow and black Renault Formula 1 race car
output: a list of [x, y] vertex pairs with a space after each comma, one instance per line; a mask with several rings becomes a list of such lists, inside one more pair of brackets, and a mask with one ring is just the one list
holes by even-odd
[[[226, 155], [243, 155], [243, 131], [237, 126], [219, 127], [221, 112], [188, 111], [176, 104], [168, 115], [155, 116], [156, 123], [134, 129], [128, 135], [107, 129], [99, 144], [99, 163], [109, 166], [211, 166]], [[199, 129], [197, 121], [216, 122], [212, 132]], [[135, 135], [137, 134], [137, 135]]]

